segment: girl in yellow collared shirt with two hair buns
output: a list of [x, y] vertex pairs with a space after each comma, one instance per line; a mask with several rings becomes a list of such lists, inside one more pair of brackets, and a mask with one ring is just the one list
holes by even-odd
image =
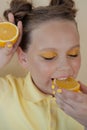
[[[17, 24], [15, 46], [0, 49], [0, 68], [17, 51], [25, 78], [0, 78], [1, 130], [87, 129], [87, 88], [53, 95], [52, 80], [76, 78], [80, 69], [80, 41], [72, 0], [51, 0], [34, 8], [26, 0], [12, 0], [5, 17]], [[23, 29], [22, 29], [23, 23]]]

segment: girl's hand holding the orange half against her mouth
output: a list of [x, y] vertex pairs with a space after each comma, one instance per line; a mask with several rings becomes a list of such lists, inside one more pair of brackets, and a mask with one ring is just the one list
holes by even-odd
[[87, 87], [80, 82], [81, 93], [62, 90], [56, 93], [58, 106], [79, 123], [87, 127]]

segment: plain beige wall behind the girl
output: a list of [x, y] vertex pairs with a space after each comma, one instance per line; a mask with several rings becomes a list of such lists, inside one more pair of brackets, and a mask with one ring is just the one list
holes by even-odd
[[[0, 0], [0, 16], [3, 19], [3, 11], [9, 7], [11, 0]], [[32, 0], [34, 6], [48, 5], [50, 0]], [[82, 66], [78, 75], [78, 79], [87, 84], [87, 0], [75, 0], [78, 9], [77, 22], [80, 32]], [[2, 57], [3, 58], [3, 57]], [[0, 61], [1, 62], [1, 61]], [[16, 54], [11, 62], [0, 71], [0, 76], [12, 73], [16, 76], [24, 76], [25, 70], [18, 63]]]

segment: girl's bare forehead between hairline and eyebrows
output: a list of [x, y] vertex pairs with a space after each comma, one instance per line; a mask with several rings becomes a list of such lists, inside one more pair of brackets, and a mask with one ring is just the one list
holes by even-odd
[[[42, 48], [51, 48], [61, 45], [75, 46], [79, 43], [79, 34], [76, 24], [72, 21], [55, 20], [40, 24], [32, 32], [32, 44]], [[68, 44], [70, 43], [70, 44]]]

